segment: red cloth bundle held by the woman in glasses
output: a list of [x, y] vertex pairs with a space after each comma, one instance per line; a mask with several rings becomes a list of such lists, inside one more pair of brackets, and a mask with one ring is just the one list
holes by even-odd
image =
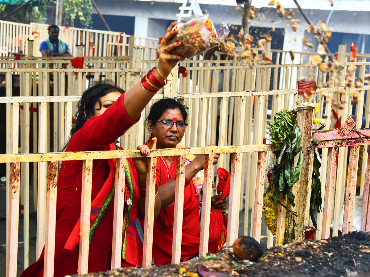
[[[219, 182], [217, 185], [217, 194], [222, 192], [219, 200], [225, 199], [230, 193], [230, 172], [225, 168], [219, 167], [216, 172]], [[209, 246], [208, 251], [217, 253], [226, 242], [226, 232], [228, 229], [228, 218], [222, 214], [220, 209], [212, 209], [211, 224], [209, 226]], [[217, 238], [218, 241], [211, 241], [211, 238]]]

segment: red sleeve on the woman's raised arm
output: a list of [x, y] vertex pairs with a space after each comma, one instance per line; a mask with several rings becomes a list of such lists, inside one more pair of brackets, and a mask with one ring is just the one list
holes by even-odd
[[92, 117], [72, 136], [67, 151], [101, 150], [115, 142], [132, 125], [138, 122], [128, 118], [123, 105], [125, 93], [102, 115]]

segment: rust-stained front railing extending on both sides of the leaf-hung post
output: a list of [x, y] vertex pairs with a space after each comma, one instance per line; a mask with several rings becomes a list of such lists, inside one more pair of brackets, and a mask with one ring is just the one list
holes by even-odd
[[[45, 118], [46, 115], [46, 102], [48, 99], [42, 97], [35, 97], [41, 101], [40, 110], [40, 120]], [[303, 99], [303, 95], [298, 97]], [[33, 100], [36, 100], [33, 99]], [[302, 101], [302, 99], [300, 101]], [[12, 107], [12, 118], [11, 118], [11, 133], [13, 138], [18, 138], [18, 111], [20, 98], [8, 99], [8, 103], [11, 103]], [[61, 100], [61, 99], [57, 99]], [[65, 99], [67, 100], [67, 99]], [[23, 101], [29, 101], [29, 99], [23, 99]], [[311, 113], [312, 120], [312, 110]], [[298, 112], [300, 113], [300, 111]], [[306, 111], [307, 113], [307, 111]], [[312, 127], [310, 127], [312, 128]], [[350, 133], [348, 130], [348, 133]], [[306, 133], [306, 137], [311, 140], [311, 131]], [[367, 137], [368, 130], [359, 130], [364, 137]], [[328, 180], [323, 189], [328, 192], [324, 197], [324, 218], [322, 222], [323, 233], [322, 238], [327, 238], [329, 235], [328, 230], [330, 230], [330, 222], [332, 216], [330, 212], [332, 211], [332, 201], [331, 196], [334, 192], [334, 180], [333, 178], [335, 171], [335, 155], [336, 149], [339, 147], [351, 146], [350, 156], [353, 163], [351, 163], [348, 173], [347, 180], [347, 192], [345, 198], [345, 215], [343, 219], [343, 232], [347, 233], [351, 230], [352, 226], [352, 210], [354, 204], [354, 198], [351, 197], [353, 190], [356, 187], [355, 176], [357, 174], [357, 162], [356, 155], [359, 153], [360, 145], [369, 145], [370, 140], [368, 138], [361, 138], [360, 136], [354, 137], [354, 139], [339, 139], [339, 140], [328, 140], [323, 138], [322, 133], [315, 133], [315, 138], [320, 139], [320, 144], [317, 147], [329, 147], [329, 157], [330, 162], [328, 164], [323, 164], [322, 167], [328, 166]], [[354, 131], [352, 131], [352, 136], [355, 136]], [[12, 147], [16, 148], [18, 146], [17, 139], [14, 139]], [[174, 241], [172, 248], [173, 256], [172, 262], [180, 262], [181, 253], [181, 224], [176, 221], [179, 217], [178, 215], [182, 213], [183, 202], [181, 201], [180, 195], [182, 195], [184, 190], [184, 180], [185, 180], [185, 155], [188, 154], [206, 154], [205, 161], [205, 180], [203, 183], [203, 205], [202, 205], [202, 220], [201, 220], [201, 240], [199, 245], [199, 256], [205, 256], [208, 249], [208, 233], [209, 233], [209, 209], [211, 206], [211, 196], [212, 196], [212, 182], [213, 182], [213, 154], [232, 154], [231, 159], [231, 190], [228, 205], [228, 232], [226, 239], [226, 246], [231, 246], [238, 236], [238, 229], [235, 226], [238, 225], [239, 221], [239, 194], [240, 194], [240, 173], [242, 172], [242, 153], [257, 153], [257, 164], [256, 164], [256, 179], [253, 182], [253, 192], [255, 202], [253, 204], [253, 210], [255, 211], [252, 219], [252, 237], [257, 241], [260, 241], [261, 237], [261, 225], [262, 225], [262, 202], [263, 202], [263, 191], [265, 187], [265, 168], [266, 168], [266, 157], [268, 151], [276, 151], [279, 148], [269, 145], [269, 144], [253, 144], [253, 145], [243, 145], [243, 146], [221, 146], [221, 147], [195, 147], [195, 148], [173, 148], [173, 149], [163, 149], [151, 151], [148, 164], [149, 178], [147, 179], [147, 196], [145, 201], [145, 230], [144, 230], [144, 253], [143, 253], [143, 266], [150, 266], [151, 264], [151, 249], [152, 249], [152, 226], [154, 222], [154, 187], [155, 178], [151, 178], [156, 170], [156, 157], [176, 155], [178, 157], [177, 167], [177, 177], [176, 177], [176, 194], [175, 194], [175, 222], [174, 222]], [[302, 168], [301, 175], [306, 176], [307, 172], [312, 172], [312, 162], [313, 162], [314, 151], [306, 152], [306, 156], [309, 158], [306, 167]], [[42, 173], [38, 178], [38, 230], [37, 230], [37, 250], [38, 254], [45, 244], [45, 276], [52, 276], [54, 270], [54, 245], [55, 245], [55, 212], [56, 212], [56, 184], [57, 184], [57, 168], [58, 161], [61, 160], [83, 160], [83, 171], [85, 172], [83, 176], [82, 191], [81, 195], [81, 236], [79, 244], [80, 261], [78, 266], [79, 274], [87, 273], [88, 264], [88, 238], [89, 238], [89, 225], [83, 224], [84, 220], [89, 221], [90, 215], [90, 199], [87, 197], [91, 194], [91, 184], [92, 184], [92, 161], [94, 159], [104, 159], [104, 158], [114, 158], [117, 159], [117, 168], [124, 168], [126, 158], [142, 157], [139, 151], [136, 150], [123, 150], [123, 151], [94, 151], [94, 152], [75, 152], [75, 153], [45, 153], [45, 154], [11, 154], [11, 155], [0, 155], [0, 163], [9, 164], [9, 204], [8, 204], [8, 232], [7, 232], [7, 268], [6, 276], [13, 277], [17, 274], [17, 248], [18, 248], [18, 216], [19, 216], [19, 201], [20, 201], [20, 188], [22, 187], [22, 167], [27, 163], [39, 163], [39, 170]], [[146, 158], [146, 157], [145, 157]], [[181, 162], [182, 161], [182, 162]], [[47, 167], [46, 167], [47, 163]], [[367, 167], [369, 167], [369, 163]], [[311, 171], [310, 171], [311, 170]], [[26, 172], [27, 174], [27, 172]], [[115, 183], [118, 187], [124, 185], [125, 174], [123, 170], [117, 170]], [[302, 177], [305, 178], [305, 177]], [[367, 171], [367, 189], [366, 189], [366, 209], [363, 210], [363, 219], [361, 230], [369, 230], [368, 215], [369, 209], [367, 208], [369, 203], [369, 179], [370, 171]], [[310, 182], [308, 182], [310, 184]], [[301, 184], [302, 186], [302, 184]], [[306, 182], [307, 186], [307, 182]], [[309, 188], [309, 187], [308, 187]], [[114, 209], [116, 214], [121, 214], [123, 209], [123, 192], [124, 190], [115, 190], [115, 204]], [[296, 194], [297, 203], [301, 203], [301, 206], [305, 207], [303, 209], [302, 216], [303, 222], [298, 224], [297, 228], [303, 229], [306, 226], [306, 221], [308, 220], [309, 207], [306, 206], [307, 199], [310, 197], [310, 192], [302, 189], [301, 191], [306, 191], [305, 198], [300, 198], [300, 192]], [[41, 199], [46, 199], [42, 201]], [[297, 204], [298, 206], [299, 204]], [[364, 204], [365, 207], [365, 204]], [[41, 213], [40, 211], [46, 211]], [[299, 212], [299, 211], [298, 211]], [[280, 225], [285, 225], [285, 222], [280, 220]], [[43, 227], [45, 226], [45, 232]], [[321, 225], [319, 225], [321, 226]], [[281, 229], [277, 226], [278, 230]], [[329, 228], [329, 229], [328, 229]], [[122, 218], [115, 217], [114, 219], [114, 233], [113, 233], [113, 245], [112, 245], [112, 264], [111, 268], [116, 269], [120, 267], [121, 262], [121, 230], [122, 230]], [[279, 236], [279, 234], [277, 234]], [[297, 240], [300, 240], [296, 237]], [[278, 245], [279, 242], [276, 241]]]

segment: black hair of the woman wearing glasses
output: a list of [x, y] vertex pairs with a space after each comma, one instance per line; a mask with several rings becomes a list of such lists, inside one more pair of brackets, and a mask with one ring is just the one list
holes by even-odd
[[188, 107], [182, 105], [172, 98], [164, 98], [159, 100], [158, 102], [155, 102], [151, 106], [148, 117], [145, 119], [145, 121], [148, 122], [149, 120], [151, 120], [152, 124], [155, 125], [157, 123], [155, 122], [155, 120], [158, 120], [166, 110], [176, 108], [180, 110], [182, 117], [184, 118], [184, 122], [187, 123], [188, 112], [186, 110], [188, 109]]

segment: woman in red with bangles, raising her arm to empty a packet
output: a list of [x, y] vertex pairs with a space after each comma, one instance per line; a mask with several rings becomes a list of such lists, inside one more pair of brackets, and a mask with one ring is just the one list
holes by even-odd
[[[165, 41], [177, 33], [172, 23]], [[76, 122], [66, 151], [116, 150], [117, 138], [135, 124], [141, 111], [158, 89], [165, 85], [171, 72], [172, 60], [182, 57], [170, 55], [179, 44], [159, 45], [158, 68], [149, 71], [141, 83], [127, 92], [108, 83], [99, 83], [84, 92], [78, 103]], [[150, 80], [150, 82], [148, 81]], [[110, 107], [111, 106], [111, 107]], [[145, 150], [141, 151], [145, 154]], [[105, 271], [111, 267], [113, 233], [115, 160], [94, 160], [90, 214], [90, 245], [88, 272]], [[122, 266], [138, 265], [135, 218], [139, 198], [135, 167], [126, 163], [124, 229], [122, 231]], [[80, 233], [82, 161], [63, 161], [58, 175], [57, 213], [55, 228], [54, 276], [77, 274], [78, 242]], [[158, 196], [156, 196], [157, 203]], [[44, 250], [36, 263], [28, 267], [22, 277], [44, 274]]]

